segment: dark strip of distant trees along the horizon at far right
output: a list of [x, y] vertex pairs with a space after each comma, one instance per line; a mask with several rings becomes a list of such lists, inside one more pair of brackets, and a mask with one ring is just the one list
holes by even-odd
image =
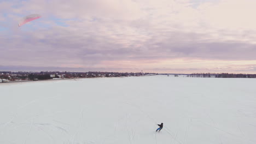
[[188, 77], [256, 78], [256, 74], [193, 73], [193, 74], [189, 74]]

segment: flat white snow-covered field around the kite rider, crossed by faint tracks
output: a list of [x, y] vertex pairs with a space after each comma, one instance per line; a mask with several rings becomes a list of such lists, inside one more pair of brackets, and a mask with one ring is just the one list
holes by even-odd
[[166, 75], [1, 83], [0, 143], [256, 143], [255, 84]]

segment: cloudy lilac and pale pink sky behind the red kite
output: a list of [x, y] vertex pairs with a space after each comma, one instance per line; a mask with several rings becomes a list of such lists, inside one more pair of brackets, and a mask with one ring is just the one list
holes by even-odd
[[[0, 71], [256, 74], [255, 0], [0, 0]], [[40, 19], [18, 27], [30, 14]]]

